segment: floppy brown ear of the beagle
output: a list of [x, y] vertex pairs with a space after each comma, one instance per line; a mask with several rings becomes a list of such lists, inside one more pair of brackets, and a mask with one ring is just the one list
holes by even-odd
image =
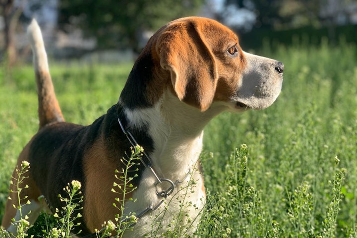
[[199, 24], [177, 22], [163, 30], [156, 50], [160, 65], [169, 70], [178, 98], [201, 111], [212, 104], [216, 85], [216, 61]]

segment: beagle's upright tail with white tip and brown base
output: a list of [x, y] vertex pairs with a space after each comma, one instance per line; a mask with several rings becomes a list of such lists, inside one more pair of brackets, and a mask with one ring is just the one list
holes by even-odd
[[27, 35], [33, 52], [33, 65], [38, 90], [38, 114], [41, 128], [49, 123], [64, 121], [64, 118], [52, 84], [41, 29], [35, 19], [28, 26]]

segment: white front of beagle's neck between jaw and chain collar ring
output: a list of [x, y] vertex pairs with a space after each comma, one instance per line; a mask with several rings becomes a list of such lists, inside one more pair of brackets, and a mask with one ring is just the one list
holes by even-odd
[[153, 167], [168, 179], [183, 178], [192, 171], [202, 150], [204, 126], [223, 111], [220, 106], [212, 106], [200, 112], [179, 101], [169, 89], [152, 107], [129, 109], [120, 101], [119, 104], [129, 130], [148, 130], [154, 142], [154, 150], [150, 153]]

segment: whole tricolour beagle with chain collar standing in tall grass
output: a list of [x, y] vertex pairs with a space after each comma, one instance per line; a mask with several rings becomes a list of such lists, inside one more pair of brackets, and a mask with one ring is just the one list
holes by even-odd
[[[113, 203], [120, 196], [112, 192], [115, 170], [127, 166], [122, 158], [136, 144], [144, 155], [129, 174], [136, 189], [126, 194], [124, 217], [135, 214], [137, 221], [123, 237], [153, 232], [160, 237], [175, 219], [192, 235], [206, 197], [199, 162], [203, 128], [225, 111], [269, 107], [282, 88], [283, 63], [242, 51], [238, 36], [215, 20], [180, 18], [150, 38], [107, 114], [91, 125], [72, 124], [64, 121], [56, 99], [36, 21], [28, 35], [40, 126], [17, 162], [30, 164], [21, 198], [31, 203], [22, 207], [22, 216], [31, 211], [28, 221], [35, 222], [44, 206], [41, 195], [53, 212], [61, 208], [58, 195], [64, 196], [63, 187], [78, 180], [83, 195], [80, 236], [115, 221], [119, 210]], [[10, 189], [16, 190], [13, 184]], [[18, 199], [11, 192], [9, 197], [1, 226], [16, 234], [11, 219], [21, 218], [13, 207]]]

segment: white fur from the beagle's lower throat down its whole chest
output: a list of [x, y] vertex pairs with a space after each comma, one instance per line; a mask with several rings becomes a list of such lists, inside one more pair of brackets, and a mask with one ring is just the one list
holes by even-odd
[[[167, 229], [182, 229], [182, 233], [192, 234], [197, 226], [197, 216], [205, 204], [203, 178], [198, 169], [199, 155], [202, 150], [203, 131], [187, 134], [181, 125], [168, 123], [162, 116], [160, 106], [138, 111], [125, 111], [131, 126], [140, 126], [143, 122], [149, 125], [149, 135], [154, 141], [154, 151], [150, 154], [152, 167], [161, 179], [173, 182], [182, 180], [176, 185], [174, 192], [154, 211], [145, 213], [124, 237], [160, 237]], [[158, 117], [159, 116], [159, 117]], [[187, 175], [187, 173], [189, 175]], [[166, 190], [168, 182], [155, 186], [155, 176], [146, 168], [142, 173], [138, 188], [133, 192], [133, 201], [125, 203], [125, 214], [135, 212], [136, 215], [149, 206], [156, 206], [163, 199], [157, 191]], [[135, 202], [134, 202], [135, 201]], [[185, 231], [185, 227], [189, 231]]]

